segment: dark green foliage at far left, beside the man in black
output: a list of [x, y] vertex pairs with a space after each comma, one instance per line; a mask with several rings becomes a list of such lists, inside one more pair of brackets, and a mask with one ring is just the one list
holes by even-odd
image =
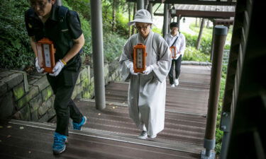
[[0, 6], [0, 67], [21, 70], [34, 57], [24, 22], [29, 4], [27, 0], [4, 0]]

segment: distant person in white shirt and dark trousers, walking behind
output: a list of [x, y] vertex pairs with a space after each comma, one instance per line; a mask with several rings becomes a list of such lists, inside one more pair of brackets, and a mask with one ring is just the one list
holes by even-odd
[[[176, 48], [176, 57], [172, 59], [172, 65], [168, 75], [171, 87], [179, 85], [181, 61], [184, 56], [184, 49], [186, 49], [186, 38], [182, 33], [179, 33], [178, 27], [178, 23], [170, 23], [171, 32], [165, 35], [165, 41], [169, 47], [174, 46]], [[175, 71], [175, 78], [173, 71]]]

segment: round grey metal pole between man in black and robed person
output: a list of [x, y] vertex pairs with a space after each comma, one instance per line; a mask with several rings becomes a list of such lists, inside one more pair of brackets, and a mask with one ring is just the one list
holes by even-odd
[[92, 15], [92, 57], [94, 66], [94, 91], [97, 110], [104, 110], [105, 83], [104, 83], [104, 52], [103, 30], [101, 15], [101, 0], [91, 1]]

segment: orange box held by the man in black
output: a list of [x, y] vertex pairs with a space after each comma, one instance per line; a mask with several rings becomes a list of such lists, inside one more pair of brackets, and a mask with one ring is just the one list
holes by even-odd
[[53, 42], [48, 38], [43, 38], [36, 43], [38, 61], [45, 72], [52, 73], [55, 66], [55, 48]]

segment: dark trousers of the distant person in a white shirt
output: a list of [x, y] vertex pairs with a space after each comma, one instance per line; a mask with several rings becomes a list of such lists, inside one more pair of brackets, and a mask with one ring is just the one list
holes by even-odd
[[178, 59], [172, 59], [171, 69], [170, 69], [169, 74], [168, 74], [170, 85], [174, 84], [174, 71], [175, 71], [175, 78], [176, 79], [179, 78], [181, 60], [182, 60], [182, 55], [180, 55], [180, 57], [178, 57]]

